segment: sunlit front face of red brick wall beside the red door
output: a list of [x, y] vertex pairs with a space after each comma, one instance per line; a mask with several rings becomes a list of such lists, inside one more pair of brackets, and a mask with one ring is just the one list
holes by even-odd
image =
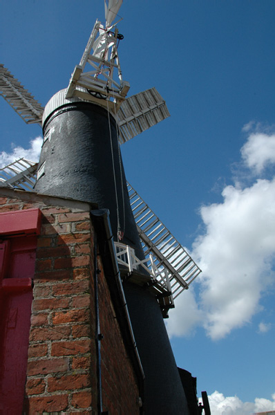
[[[15, 198], [1, 199], [0, 205], [2, 212], [39, 208], [43, 215], [28, 351], [28, 413], [95, 414], [93, 228], [89, 206], [78, 203], [77, 208], [68, 208]], [[82, 205], [86, 205], [86, 212]]]

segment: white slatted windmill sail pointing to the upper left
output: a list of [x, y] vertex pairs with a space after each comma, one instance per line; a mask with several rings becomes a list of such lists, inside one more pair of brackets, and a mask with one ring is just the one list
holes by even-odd
[[3, 64], [0, 64], [0, 95], [27, 124], [41, 125], [43, 107]]

